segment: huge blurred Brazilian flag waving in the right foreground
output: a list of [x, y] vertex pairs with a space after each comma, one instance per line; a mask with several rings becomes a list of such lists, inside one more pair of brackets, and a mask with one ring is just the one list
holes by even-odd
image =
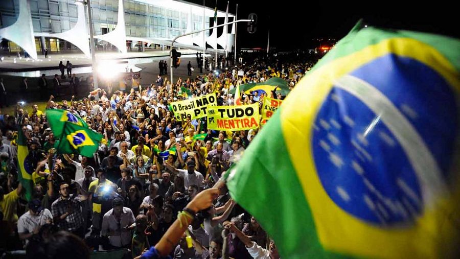
[[359, 27], [292, 90], [229, 192], [282, 258], [458, 258], [460, 41]]

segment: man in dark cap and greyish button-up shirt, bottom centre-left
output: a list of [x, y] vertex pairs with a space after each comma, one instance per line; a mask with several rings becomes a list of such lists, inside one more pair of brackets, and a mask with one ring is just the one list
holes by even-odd
[[112, 249], [131, 247], [129, 226], [135, 222], [135, 219], [131, 209], [123, 205], [122, 198], [113, 199], [112, 209], [102, 218], [101, 234], [103, 237], [108, 237]]

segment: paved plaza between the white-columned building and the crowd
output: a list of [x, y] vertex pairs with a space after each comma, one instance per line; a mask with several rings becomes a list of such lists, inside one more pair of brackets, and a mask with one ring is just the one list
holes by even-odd
[[[192, 65], [196, 68], [196, 52], [182, 49], [181, 65], [178, 68], [174, 68], [174, 81], [180, 76], [183, 79], [187, 78], [187, 63], [192, 62]], [[134, 72], [137, 70], [141, 71], [141, 85], [150, 85], [156, 81], [159, 73], [158, 62], [159, 60], [167, 60], [169, 64], [169, 51], [152, 50], [146, 52], [129, 52], [127, 54], [121, 53], [97, 53], [99, 70], [105, 69], [107, 73], [102, 73], [103, 77], [106, 78], [117, 78], [121, 77], [125, 73], [125, 68], [134, 68]], [[39, 56], [39, 60], [43, 56]], [[51, 61], [49, 60], [51, 59]], [[74, 64], [72, 73], [77, 74], [80, 81], [86, 81], [91, 75], [92, 68], [90, 66], [90, 59], [84, 57], [83, 54], [62, 54], [62, 55], [51, 55], [48, 60], [34, 61], [31, 59], [27, 60], [22, 58], [21, 60], [16, 59], [14, 63], [14, 57], [4, 57], [3, 62], [0, 62], [0, 77], [4, 79], [4, 85], [7, 89], [7, 101], [8, 104], [15, 104], [18, 101], [28, 102], [39, 102], [47, 100], [50, 92], [44, 93], [38, 88], [38, 80], [41, 74], [45, 74], [49, 80], [49, 87], [53, 86], [53, 78], [55, 74], [60, 72], [57, 69], [59, 60], [66, 61], [70, 60]], [[64, 62], [65, 63], [65, 62]], [[76, 67], [75, 67], [76, 66]], [[80, 66], [80, 67], [78, 67]], [[31, 70], [25, 72], [5, 72], [5, 70]], [[193, 72], [193, 77], [196, 77], [199, 73], [199, 68]], [[101, 75], [100, 75], [101, 76]], [[102, 78], [102, 76], [100, 78]], [[22, 79], [28, 78], [29, 90], [24, 93], [20, 91], [20, 85]], [[168, 69], [168, 79], [170, 78], [170, 70]], [[68, 80], [64, 79], [63, 81]], [[113, 79], [114, 86], [118, 86], [117, 79]], [[102, 88], [107, 84], [100, 82]], [[65, 86], [64, 86], [65, 88]], [[79, 90], [79, 96], [87, 95], [88, 85], [81, 84], [81, 90]], [[72, 96], [71, 89], [64, 89], [64, 95], [62, 98], [70, 99]]]

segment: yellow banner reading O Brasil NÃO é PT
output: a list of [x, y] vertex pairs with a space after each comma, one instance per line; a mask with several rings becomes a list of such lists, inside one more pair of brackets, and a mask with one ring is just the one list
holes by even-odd
[[171, 109], [174, 112], [174, 116], [177, 120], [186, 120], [187, 115], [192, 116], [193, 119], [199, 119], [207, 116], [206, 109], [208, 106], [216, 106], [217, 98], [216, 93], [210, 93], [209, 95], [183, 100], [179, 102], [171, 103]]

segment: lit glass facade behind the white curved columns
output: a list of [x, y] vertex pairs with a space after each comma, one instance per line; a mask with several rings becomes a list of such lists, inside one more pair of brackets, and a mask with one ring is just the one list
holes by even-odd
[[[12, 25], [19, 13], [18, 0], [1, 0], [0, 28]], [[77, 22], [75, 0], [29, 0], [34, 32], [60, 33], [70, 30]], [[173, 38], [185, 33], [189, 13], [155, 4], [124, 0], [126, 36]], [[118, 0], [91, 0], [94, 34], [101, 35], [115, 29], [118, 21]], [[209, 27], [209, 18], [206, 20]], [[203, 28], [203, 16], [192, 14], [192, 30]], [[206, 33], [206, 35], [209, 35]], [[63, 40], [46, 39], [48, 49], [59, 51], [76, 49]], [[41, 52], [40, 43], [37, 51]]]

